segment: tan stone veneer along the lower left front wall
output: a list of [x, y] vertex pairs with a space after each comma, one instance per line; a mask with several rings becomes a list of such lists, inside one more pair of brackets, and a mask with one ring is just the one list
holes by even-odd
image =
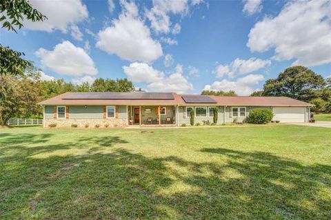
[[89, 124], [88, 128], [94, 128], [97, 124], [100, 125], [100, 128], [105, 128], [107, 123], [108, 128], [127, 126], [126, 119], [45, 119], [45, 128], [51, 123], [56, 123], [57, 127], [71, 127], [75, 123], [78, 128], [85, 128], [86, 124]]

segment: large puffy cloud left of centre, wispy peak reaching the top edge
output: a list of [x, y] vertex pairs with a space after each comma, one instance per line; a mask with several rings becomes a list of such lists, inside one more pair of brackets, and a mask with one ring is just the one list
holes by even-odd
[[150, 36], [150, 29], [138, 17], [134, 2], [121, 1], [123, 11], [112, 26], [98, 34], [97, 48], [128, 61], [150, 63], [163, 55], [161, 44]]

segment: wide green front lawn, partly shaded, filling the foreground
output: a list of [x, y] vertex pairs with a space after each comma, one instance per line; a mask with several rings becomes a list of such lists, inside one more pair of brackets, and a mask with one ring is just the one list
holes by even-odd
[[330, 219], [330, 137], [282, 125], [1, 129], [0, 219]]

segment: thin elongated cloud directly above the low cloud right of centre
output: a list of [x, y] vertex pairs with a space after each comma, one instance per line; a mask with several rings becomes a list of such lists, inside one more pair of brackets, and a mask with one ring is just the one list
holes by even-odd
[[214, 73], [218, 78], [228, 76], [230, 78], [234, 77], [234, 74], [247, 74], [265, 68], [269, 66], [271, 61], [266, 59], [258, 59], [252, 57], [248, 60], [245, 59], [235, 59], [232, 63], [227, 65], [219, 65], [215, 68]]

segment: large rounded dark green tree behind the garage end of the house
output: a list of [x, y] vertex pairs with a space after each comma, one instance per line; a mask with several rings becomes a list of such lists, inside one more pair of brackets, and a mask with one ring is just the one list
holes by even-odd
[[291, 97], [301, 101], [317, 98], [316, 91], [325, 86], [325, 79], [304, 66], [292, 66], [281, 72], [277, 79], [268, 79], [263, 95]]

